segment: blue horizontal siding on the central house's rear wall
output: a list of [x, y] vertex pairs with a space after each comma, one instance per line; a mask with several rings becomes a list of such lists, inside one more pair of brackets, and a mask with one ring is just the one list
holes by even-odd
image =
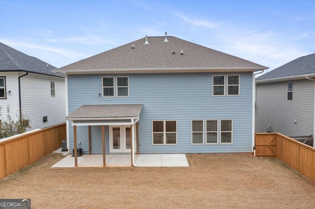
[[[232, 74], [240, 75], [239, 96], [212, 96], [213, 75], [211, 73], [68, 75], [68, 110], [71, 113], [83, 104], [143, 104], [139, 121], [139, 153], [252, 152], [252, 72]], [[115, 78], [128, 76], [129, 97], [98, 96], [102, 94], [102, 77], [107, 76]], [[225, 91], [226, 89], [225, 86]], [[191, 145], [191, 120], [204, 120], [205, 141], [206, 120], [224, 119], [233, 120], [233, 144]], [[152, 145], [153, 120], [177, 121], [177, 145]], [[101, 128], [95, 126], [91, 130], [92, 153], [102, 153]], [[106, 153], [109, 153], [108, 130], [106, 127]], [[72, 126], [69, 126], [69, 137], [70, 147], [73, 147]], [[88, 151], [87, 127], [77, 127], [77, 140], [81, 141], [83, 152]]]

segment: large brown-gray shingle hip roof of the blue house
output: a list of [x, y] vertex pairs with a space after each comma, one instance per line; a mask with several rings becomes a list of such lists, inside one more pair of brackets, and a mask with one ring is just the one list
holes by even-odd
[[[212, 50], [173, 36], [148, 37], [59, 68], [75, 72], [99, 69], [169, 69], [169, 68], [244, 68], [267, 69], [265, 66]], [[132, 46], [134, 49], [132, 49]], [[183, 55], [181, 52], [183, 51]], [[174, 52], [174, 53], [173, 53]]]

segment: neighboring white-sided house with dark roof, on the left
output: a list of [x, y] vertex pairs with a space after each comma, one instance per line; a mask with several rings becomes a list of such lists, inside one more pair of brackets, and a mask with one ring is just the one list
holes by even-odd
[[31, 130], [65, 122], [65, 79], [56, 67], [0, 43], [0, 119], [28, 118]]

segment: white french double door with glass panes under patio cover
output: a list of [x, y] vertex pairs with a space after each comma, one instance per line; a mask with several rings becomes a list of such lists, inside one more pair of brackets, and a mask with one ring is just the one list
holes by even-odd
[[131, 129], [130, 126], [110, 126], [110, 152], [130, 153], [131, 152]]

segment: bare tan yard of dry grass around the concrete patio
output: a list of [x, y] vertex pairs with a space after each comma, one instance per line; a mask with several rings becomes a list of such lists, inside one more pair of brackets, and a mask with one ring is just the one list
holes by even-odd
[[50, 154], [0, 180], [32, 209], [315, 208], [315, 183], [277, 159], [189, 154], [189, 167], [51, 168]]

